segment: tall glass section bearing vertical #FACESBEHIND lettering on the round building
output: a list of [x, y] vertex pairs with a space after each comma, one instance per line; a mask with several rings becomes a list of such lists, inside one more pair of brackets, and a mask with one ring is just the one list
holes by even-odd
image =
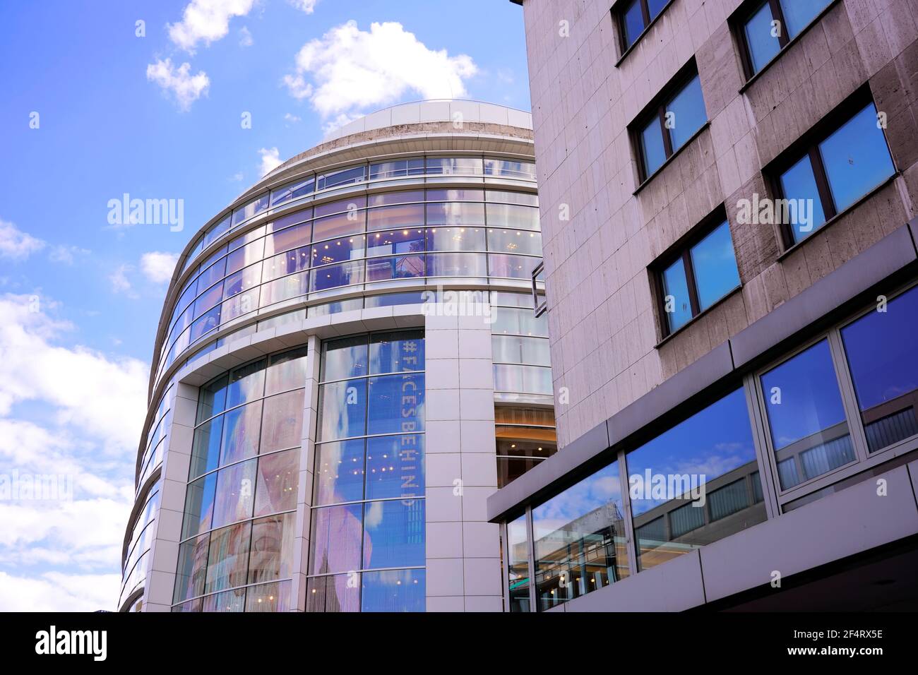
[[425, 608], [424, 335], [322, 345], [308, 612]]

